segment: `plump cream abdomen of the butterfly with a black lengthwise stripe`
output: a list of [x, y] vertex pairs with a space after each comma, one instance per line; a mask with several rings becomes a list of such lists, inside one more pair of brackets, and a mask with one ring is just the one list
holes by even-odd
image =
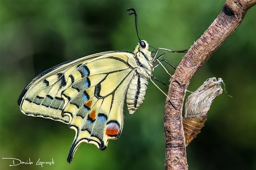
[[126, 93], [126, 104], [129, 114], [133, 114], [142, 104], [146, 89], [148, 85], [148, 79], [136, 74], [130, 83]]

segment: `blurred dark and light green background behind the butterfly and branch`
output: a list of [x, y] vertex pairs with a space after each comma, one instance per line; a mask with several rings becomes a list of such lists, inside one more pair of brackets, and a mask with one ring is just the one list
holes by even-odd
[[[0, 1], [0, 169], [161, 170], [164, 169], [165, 96], [152, 84], [134, 115], [125, 110], [120, 138], [104, 151], [82, 144], [71, 164], [74, 138], [67, 125], [21, 113], [17, 100], [40, 72], [64, 61], [112, 50], [133, 51], [140, 37], [154, 47], [189, 49], [219, 14], [224, 0], [175, 1]], [[202, 132], [187, 147], [190, 170], [256, 169], [256, 7], [192, 79], [196, 90], [221, 77], [226, 91], [213, 102]], [[168, 54], [178, 65], [184, 54]], [[166, 66], [168, 67], [168, 66]], [[174, 72], [168, 67], [170, 72]], [[168, 83], [164, 70], [154, 76]], [[167, 92], [167, 88], [163, 87]], [[189, 93], [188, 93], [189, 95]], [[8, 166], [5, 158], [54, 159], [52, 166]]]

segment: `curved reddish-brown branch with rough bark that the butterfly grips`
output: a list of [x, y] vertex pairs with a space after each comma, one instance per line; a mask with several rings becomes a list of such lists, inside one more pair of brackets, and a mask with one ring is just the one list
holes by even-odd
[[234, 32], [242, 22], [247, 10], [255, 4], [256, 0], [227, 0], [212, 25], [192, 45], [178, 65], [168, 90], [168, 97], [177, 109], [167, 100], [164, 111], [166, 170], [188, 169], [182, 125], [182, 106], [190, 80]]

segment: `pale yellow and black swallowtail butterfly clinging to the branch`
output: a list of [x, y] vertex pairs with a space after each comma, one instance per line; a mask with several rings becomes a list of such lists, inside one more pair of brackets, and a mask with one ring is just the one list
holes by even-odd
[[139, 37], [136, 11], [129, 10], [140, 40], [133, 52], [108, 51], [58, 64], [32, 79], [18, 99], [25, 115], [61, 121], [75, 130], [69, 163], [82, 143], [104, 150], [109, 140], [117, 139], [124, 127], [124, 101], [133, 114], [144, 100], [148, 80], [156, 85], [152, 72], [162, 65], [158, 59], [167, 52], [185, 52], [162, 49], [156, 57], [158, 48], [152, 55]]

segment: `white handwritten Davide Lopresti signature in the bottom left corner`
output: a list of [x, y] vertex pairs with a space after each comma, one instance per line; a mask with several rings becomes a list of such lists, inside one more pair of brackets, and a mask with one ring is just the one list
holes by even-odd
[[49, 162], [41, 161], [40, 158], [39, 158], [36, 163], [31, 161], [30, 158], [28, 158], [28, 160], [26, 160], [26, 161], [23, 161], [23, 160], [20, 160], [20, 159], [17, 159], [17, 158], [2, 158], [2, 159], [9, 159], [11, 161], [11, 164], [9, 164], [9, 166], [32, 165], [32, 164], [35, 164], [35, 165], [39, 165], [39, 166], [43, 167], [44, 165], [54, 165], [53, 158]]

